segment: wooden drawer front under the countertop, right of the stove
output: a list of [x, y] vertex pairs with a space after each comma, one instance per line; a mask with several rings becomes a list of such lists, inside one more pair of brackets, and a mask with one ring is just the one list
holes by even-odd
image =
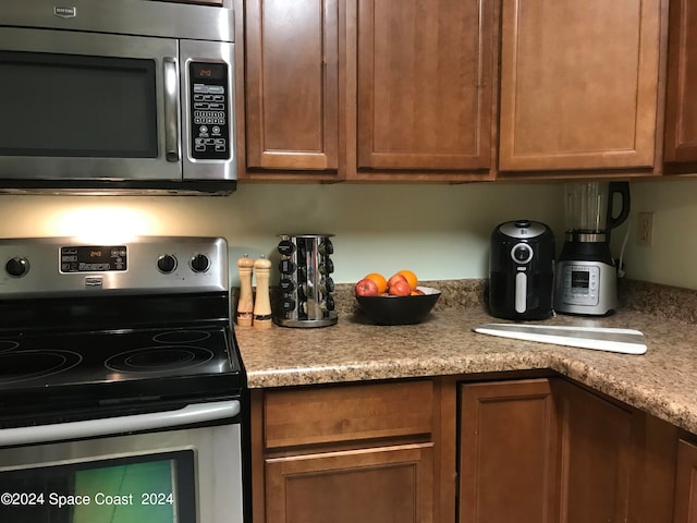
[[276, 390], [265, 397], [267, 448], [429, 434], [430, 381]]

